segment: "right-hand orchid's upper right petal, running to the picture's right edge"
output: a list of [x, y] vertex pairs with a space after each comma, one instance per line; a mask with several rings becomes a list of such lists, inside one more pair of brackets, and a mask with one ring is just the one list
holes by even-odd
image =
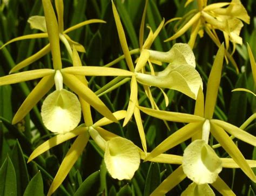
[[256, 146], [256, 137], [253, 136], [252, 134], [247, 133], [246, 131], [238, 128], [237, 126], [234, 126], [230, 123], [226, 123], [222, 120], [212, 119], [211, 122], [222, 127], [226, 132], [230, 133], [235, 138], [238, 138], [248, 144]]

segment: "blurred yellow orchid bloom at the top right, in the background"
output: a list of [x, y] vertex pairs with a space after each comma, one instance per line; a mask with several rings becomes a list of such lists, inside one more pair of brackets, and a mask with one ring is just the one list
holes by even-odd
[[[185, 5], [191, 2], [191, 0], [188, 0]], [[181, 21], [187, 20], [187, 22], [182, 23], [183, 26], [180, 26], [179, 30], [174, 33], [173, 36], [166, 39], [165, 42], [180, 37], [188, 29], [192, 28], [190, 40], [188, 42], [192, 49], [194, 47], [197, 35], [199, 34], [200, 37], [203, 36], [204, 31], [208, 34], [208, 36], [210, 36], [213, 42], [220, 47], [221, 42], [217, 36], [217, 33], [215, 32], [215, 30], [218, 29], [222, 31], [224, 35], [226, 43], [225, 56], [231, 60], [232, 64], [235, 66], [235, 69], [238, 71], [237, 64], [227, 50], [230, 42], [232, 42], [234, 45], [233, 52], [235, 50], [235, 44], [242, 44], [242, 38], [239, 36], [243, 26], [242, 21], [247, 24], [250, 23], [250, 17], [248, 16], [246, 9], [241, 4], [240, 0], [232, 0], [230, 3], [213, 3], [210, 5], [207, 5], [207, 1], [197, 0], [197, 4], [198, 9], [191, 10], [191, 12], [188, 12], [187, 15], [181, 18]], [[224, 8], [225, 6], [227, 7]], [[171, 20], [173, 21], [173, 19]], [[169, 22], [170, 21], [167, 21], [166, 23]]]

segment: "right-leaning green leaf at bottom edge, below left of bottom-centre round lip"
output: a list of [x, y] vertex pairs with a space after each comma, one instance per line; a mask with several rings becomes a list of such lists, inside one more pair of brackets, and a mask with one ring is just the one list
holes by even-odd
[[92, 173], [86, 178], [82, 185], [75, 192], [74, 196], [80, 195], [92, 195], [91, 192], [95, 191], [95, 188], [98, 186], [99, 182], [99, 171]]

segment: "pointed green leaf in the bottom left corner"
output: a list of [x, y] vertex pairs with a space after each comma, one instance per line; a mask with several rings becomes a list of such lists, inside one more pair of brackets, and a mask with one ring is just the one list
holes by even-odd
[[6, 157], [2, 167], [0, 168], [0, 195], [17, 195], [15, 169], [9, 156]]

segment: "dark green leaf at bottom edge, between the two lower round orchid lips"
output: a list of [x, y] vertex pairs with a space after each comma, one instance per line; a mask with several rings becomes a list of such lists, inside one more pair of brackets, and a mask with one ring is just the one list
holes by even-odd
[[144, 196], [150, 195], [161, 183], [160, 168], [158, 163], [151, 163], [144, 189]]

